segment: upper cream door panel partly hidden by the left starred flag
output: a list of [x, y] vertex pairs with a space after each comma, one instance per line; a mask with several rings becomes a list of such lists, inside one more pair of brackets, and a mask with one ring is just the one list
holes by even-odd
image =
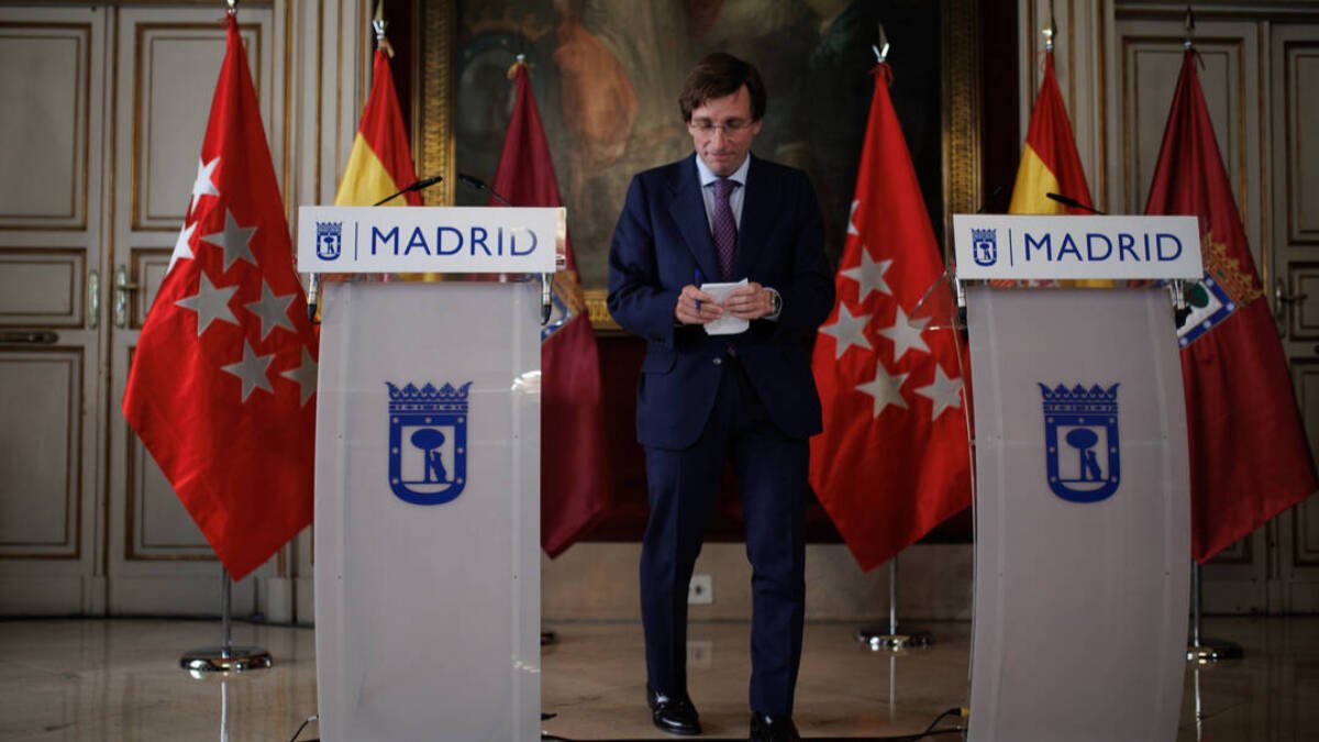
[[[248, 65], [260, 86], [261, 28], [244, 25], [241, 32]], [[223, 59], [223, 25], [137, 25], [132, 98], [133, 230], [177, 231], [183, 223], [206, 136], [206, 112], [215, 92], [214, 82], [197, 83], [195, 70], [215, 70], [212, 74], [218, 75]]]

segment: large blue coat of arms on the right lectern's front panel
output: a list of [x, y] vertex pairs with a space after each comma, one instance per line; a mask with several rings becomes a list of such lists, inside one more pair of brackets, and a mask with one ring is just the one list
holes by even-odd
[[1064, 500], [1093, 503], [1117, 491], [1117, 384], [1068, 389], [1039, 384], [1045, 404], [1049, 489]]

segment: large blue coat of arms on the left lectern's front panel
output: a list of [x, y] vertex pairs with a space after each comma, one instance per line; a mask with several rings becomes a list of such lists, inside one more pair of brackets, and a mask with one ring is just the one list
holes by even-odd
[[389, 382], [389, 489], [404, 502], [443, 504], [467, 485], [467, 391]]

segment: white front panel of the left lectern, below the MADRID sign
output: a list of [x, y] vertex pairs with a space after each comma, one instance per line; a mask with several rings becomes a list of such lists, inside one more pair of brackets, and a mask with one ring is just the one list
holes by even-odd
[[327, 742], [539, 738], [539, 284], [324, 285]]

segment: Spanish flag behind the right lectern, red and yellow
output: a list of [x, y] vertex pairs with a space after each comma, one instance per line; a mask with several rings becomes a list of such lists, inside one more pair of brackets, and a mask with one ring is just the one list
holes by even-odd
[[1050, 199], [1047, 193], [1075, 198], [1093, 206], [1086, 186], [1086, 169], [1076, 154], [1076, 140], [1067, 121], [1058, 77], [1054, 74], [1054, 53], [1045, 53], [1045, 79], [1039, 83], [1039, 96], [1030, 112], [1030, 129], [1017, 166], [1017, 184], [1012, 189], [1009, 214], [1086, 214]]

